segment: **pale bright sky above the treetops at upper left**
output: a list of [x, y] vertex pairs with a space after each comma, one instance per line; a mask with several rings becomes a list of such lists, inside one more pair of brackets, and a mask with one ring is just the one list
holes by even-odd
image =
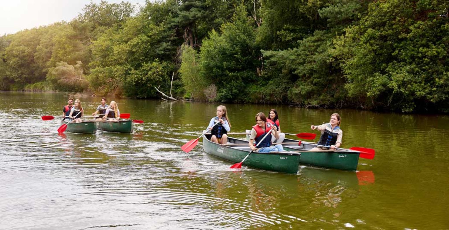
[[[106, 0], [120, 3], [122, 0]], [[124, 0], [145, 5], [145, 0]], [[2, 0], [0, 4], [0, 36], [20, 30], [47, 26], [58, 21], [70, 21], [81, 13], [91, 0]], [[100, 3], [101, 0], [92, 0]], [[138, 9], [136, 7], [136, 9]]]

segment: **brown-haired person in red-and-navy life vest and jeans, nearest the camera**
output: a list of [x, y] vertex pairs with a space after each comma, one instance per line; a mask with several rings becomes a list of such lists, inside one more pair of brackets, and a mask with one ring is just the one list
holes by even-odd
[[[248, 143], [251, 150], [257, 153], [284, 152], [284, 148], [282, 148], [281, 144], [270, 147], [271, 135], [274, 135], [275, 139], [279, 139], [279, 133], [277, 132], [277, 128], [275, 125], [267, 122], [267, 117], [265, 116], [265, 114], [262, 112], [256, 114], [255, 122], [257, 124], [251, 129], [250, 142]], [[264, 138], [267, 133], [269, 133], [268, 136]], [[259, 142], [261, 143], [257, 145]], [[255, 147], [255, 145], [257, 145], [257, 148]]]

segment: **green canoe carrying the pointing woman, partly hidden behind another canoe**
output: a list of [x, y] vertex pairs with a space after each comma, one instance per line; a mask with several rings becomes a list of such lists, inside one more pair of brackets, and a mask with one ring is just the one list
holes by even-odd
[[283, 142], [295, 143], [284, 144], [284, 150], [301, 151], [301, 164], [341, 170], [357, 170], [360, 155], [358, 151], [345, 149], [310, 152], [308, 149], [315, 147], [313, 143], [301, 141], [301, 145], [298, 146], [297, 140], [285, 139]]

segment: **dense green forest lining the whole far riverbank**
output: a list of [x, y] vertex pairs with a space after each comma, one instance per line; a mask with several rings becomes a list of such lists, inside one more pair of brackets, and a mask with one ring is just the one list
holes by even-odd
[[0, 37], [0, 90], [449, 112], [447, 0], [90, 3]]

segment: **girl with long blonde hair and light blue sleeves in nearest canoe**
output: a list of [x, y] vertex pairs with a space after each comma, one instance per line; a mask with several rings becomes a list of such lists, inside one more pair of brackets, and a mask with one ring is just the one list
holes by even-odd
[[[218, 124], [214, 126], [217, 122]], [[211, 130], [211, 141], [220, 145], [228, 143], [228, 135], [226, 133], [231, 131], [231, 123], [226, 112], [226, 106], [217, 106], [217, 116], [211, 119], [207, 128]]]

